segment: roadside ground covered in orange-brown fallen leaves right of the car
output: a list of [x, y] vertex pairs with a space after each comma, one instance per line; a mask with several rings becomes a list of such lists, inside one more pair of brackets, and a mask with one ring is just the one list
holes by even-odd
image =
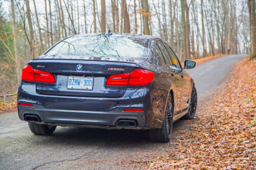
[[256, 59], [238, 62], [221, 91], [201, 101], [166, 156], [130, 160], [139, 169], [256, 169]]

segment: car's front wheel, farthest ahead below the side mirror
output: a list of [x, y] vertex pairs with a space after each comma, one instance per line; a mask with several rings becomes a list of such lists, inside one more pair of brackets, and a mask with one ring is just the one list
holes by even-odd
[[196, 111], [197, 111], [197, 90], [195, 85], [193, 85], [188, 112], [187, 114], [184, 115], [184, 118], [193, 119], [196, 115]]

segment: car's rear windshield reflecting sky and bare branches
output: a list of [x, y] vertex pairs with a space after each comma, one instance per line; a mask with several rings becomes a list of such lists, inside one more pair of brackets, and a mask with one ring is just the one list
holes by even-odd
[[116, 56], [143, 58], [147, 56], [149, 40], [118, 36], [74, 36], [62, 40], [47, 55]]

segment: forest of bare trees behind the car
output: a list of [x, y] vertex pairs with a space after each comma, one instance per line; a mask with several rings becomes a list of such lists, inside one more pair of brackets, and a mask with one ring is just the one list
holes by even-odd
[[16, 94], [26, 63], [74, 34], [163, 38], [180, 60], [256, 53], [255, 0], [2, 0], [0, 100]]

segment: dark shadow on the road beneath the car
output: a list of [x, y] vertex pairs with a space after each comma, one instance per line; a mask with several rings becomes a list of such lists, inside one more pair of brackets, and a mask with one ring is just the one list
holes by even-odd
[[[174, 141], [174, 136], [179, 135], [179, 130], [184, 130], [183, 126], [187, 120], [178, 120], [174, 123], [173, 137], [170, 142]], [[91, 129], [84, 127], [58, 127], [51, 136], [35, 136], [37, 142], [41, 143], [55, 143], [58, 145], [101, 145], [105, 143], [112, 143], [109, 146], [122, 147], [127, 144], [128, 147], [136, 148], [141, 144], [158, 143], [152, 142], [147, 130], [106, 130], [106, 129]], [[138, 145], [136, 145], [138, 144]], [[155, 144], [153, 144], [155, 145]]]

